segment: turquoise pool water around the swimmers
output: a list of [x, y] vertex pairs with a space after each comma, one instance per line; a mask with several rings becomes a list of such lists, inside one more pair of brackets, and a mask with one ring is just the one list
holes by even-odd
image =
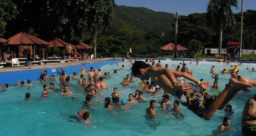
[[[162, 66], [169, 65], [169, 69], [174, 69], [172, 64], [179, 64], [182, 61], [162, 60]], [[222, 69], [230, 69], [232, 64], [224, 64], [218, 62], [195, 62], [185, 61], [189, 69], [193, 69], [193, 76], [197, 79], [203, 78], [204, 81], [213, 83], [212, 74], [209, 73], [212, 65], [215, 65], [215, 72], [219, 73], [219, 89], [223, 90], [225, 84], [228, 83], [230, 75], [222, 75]], [[113, 75], [113, 70], [120, 69], [124, 64], [126, 70], [118, 70]], [[34, 87], [9, 87], [9, 90], [0, 92], [0, 135], [213, 135], [213, 131], [222, 123], [224, 111], [218, 110], [212, 120], [206, 121], [197, 117], [187, 107], [180, 104], [183, 118], [176, 118], [171, 112], [163, 112], [160, 110], [160, 102], [162, 100], [163, 90], [156, 95], [144, 92], [147, 101], [138, 104], [131, 104], [130, 109], [115, 109], [110, 112], [104, 107], [104, 98], [110, 97], [113, 88], [117, 87], [121, 98], [128, 99], [129, 94], [134, 94], [135, 90], [140, 89], [138, 83], [141, 81], [137, 78], [135, 83], [130, 86], [123, 87], [119, 83], [127, 74], [130, 74], [131, 64], [129, 62], [119, 62], [116, 64], [106, 64], [101, 67], [102, 72], [110, 72], [110, 78], [104, 80], [108, 83], [108, 89], [101, 90], [99, 100], [93, 99], [94, 106], [90, 108], [83, 106], [85, 100], [85, 92], [80, 90], [77, 80], [73, 80], [68, 84], [69, 89], [73, 91], [72, 96], [60, 96], [60, 91], [51, 92], [48, 98], [41, 98], [43, 84], [49, 87], [49, 81], [40, 83], [32, 81]], [[249, 69], [246, 69], [249, 67]], [[251, 68], [255, 67], [252, 63], [243, 63], [240, 66], [239, 74], [243, 77], [255, 79], [256, 72], [252, 72]], [[38, 77], [39, 77], [38, 73]], [[87, 77], [87, 75], [85, 75]], [[55, 76], [59, 79], [59, 76]], [[188, 82], [188, 80], [187, 80]], [[54, 82], [54, 86], [59, 88], [59, 81]], [[234, 115], [231, 116], [231, 127], [237, 129], [235, 132], [226, 132], [222, 135], [241, 135], [241, 116], [246, 101], [255, 94], [255, 87], [249, 92], [240, 91], [229, 104], [232, 105]], [[24, 96], [30, 92], [32, 100], [24, 100]], [[214, 90], [208, 90], [215, 93]], [[76, 97], [77, 99], [72, 99]], [[146, 109], [149, 107], [149, 101], [157, 101], [157, 117], [149, 120], [145, 117]], [[170, 98], [173, 103], [176, 97]], [[172, 107], [172, 104], [171, 104]], [[77, 111], [88, 109], [93, 115], [91, 119], [91, 127], [87, 127], [78, 121], [69, 118], [77, 115]]]

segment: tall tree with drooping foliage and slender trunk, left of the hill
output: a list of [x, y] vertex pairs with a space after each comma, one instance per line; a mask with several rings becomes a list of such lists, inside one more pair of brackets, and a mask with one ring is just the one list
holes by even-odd
[[91, 41], [93, 44], [94, 57], [97, 58], [97, 36], [98, 33], [107, 29], [110, 19], [113, 15], [113, 0], [87, 0], [87, 29], [91, 32]]

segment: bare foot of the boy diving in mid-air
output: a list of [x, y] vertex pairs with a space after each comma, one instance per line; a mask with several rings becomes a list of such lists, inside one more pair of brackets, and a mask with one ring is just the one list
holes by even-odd
[[228, 87], [233, 88], [233, 89], [245, 89], [246, 87], [254, 87], [252, 84], [247, 84], [240, 82], [236, 80], [235, 78], [230, 78], [229, 84], [227, 84]]

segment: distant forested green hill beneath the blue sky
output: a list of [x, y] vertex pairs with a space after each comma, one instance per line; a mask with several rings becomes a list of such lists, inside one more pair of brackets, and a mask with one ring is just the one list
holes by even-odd
[[165, 12], [154, 12], [144, 7], [115, 6], [114, 16], [110, 25], [119, 26], [129, 24], [134, 29], [147, 33], [162, 35], [170, 32], [174, 26], [174, 15]]

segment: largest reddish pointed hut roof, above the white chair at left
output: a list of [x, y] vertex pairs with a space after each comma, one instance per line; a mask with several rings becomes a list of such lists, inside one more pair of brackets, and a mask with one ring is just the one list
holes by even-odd
[[43, 39], [37, 38], [32, 35], [28, 35], [27, 33], [20, 32], [16, 35], [8, 38], [8, 42], [5, 45], [13, 45], [13, 46], [48, 46], [49, 42], [44, 41]]

